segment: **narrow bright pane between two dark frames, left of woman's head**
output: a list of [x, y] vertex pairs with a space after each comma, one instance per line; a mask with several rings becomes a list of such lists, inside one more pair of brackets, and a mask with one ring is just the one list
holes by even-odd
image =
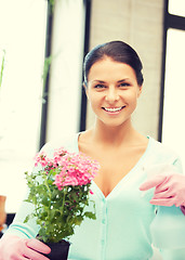
[[76, 133], [80, 119], [85, 9], [82, 0], [62, 0], [55, 10], [47, 141]]

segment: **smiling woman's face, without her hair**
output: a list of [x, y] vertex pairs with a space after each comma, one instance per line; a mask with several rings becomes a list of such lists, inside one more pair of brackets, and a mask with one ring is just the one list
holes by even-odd
[[97, 120], [116, 127], [130, 120], [142, 87], [134, 69], [111, 58], [94, 63], [88, 75], [87, 95]]

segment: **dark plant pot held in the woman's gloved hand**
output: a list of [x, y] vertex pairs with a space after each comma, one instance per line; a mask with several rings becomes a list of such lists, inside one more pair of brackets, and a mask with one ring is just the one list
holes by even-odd
[[67, 260], [70, 244], [66, 240], [60, 243], [45, 243], [51, 248], [49, 255], [44, 255], [50, 260]]

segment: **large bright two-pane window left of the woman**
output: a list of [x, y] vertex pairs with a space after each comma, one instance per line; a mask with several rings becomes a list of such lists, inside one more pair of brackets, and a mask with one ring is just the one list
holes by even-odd
[[[0, 89], [0, 194], [8, 197], [6, 212], [16, 212], [26, 191], [24, 172], [32, 168], [40, 146], [47, 4], [47, 0], [0, 3], [0, 52], [5, 50]], [[85, 9], [83, 0], [56, 1], [45, 141], [79, 130]]]

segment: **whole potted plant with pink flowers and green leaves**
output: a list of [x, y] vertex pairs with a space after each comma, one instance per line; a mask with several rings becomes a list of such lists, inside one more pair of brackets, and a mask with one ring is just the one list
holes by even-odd
[[[48, 244], [51, 249], [58, 245], [67, 259], [69, 237], [75, 226], [84, 218], [95, 219], [95, 205], [90, 200], [91, 181], [98, 171], [98, 164], [84, 154], [69, 153], [66, 150], [54, 150], [49, 157], [44, 152], [36, 155], [35, 168], [25, 172], [29, 195], [26, 202], [35, 205], [35, 210], [25, 219], [36, 218], [40, 225], [38, 239]], [[93, 211], [85, 207], [93, 204]], [[53, 253], [56, 250], [52, 250]], [[57, 260], [56, 256], [48, 255]]]

